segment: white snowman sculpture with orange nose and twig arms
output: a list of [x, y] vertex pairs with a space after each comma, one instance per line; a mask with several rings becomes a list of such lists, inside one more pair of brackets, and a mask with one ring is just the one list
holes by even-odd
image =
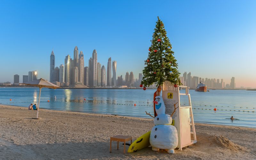
[[150, 133], [150, 145], [152, 146], [153, 151], [165, 149], [168, 153], [173, 154], [174, 148], [178, 146], [177, 129], [171, 125], [172, 117], [165, 114], [164, 100], [162, 96], [156, 96], [154, 103], [156, 104], [155, 108], [157, 116], [154, 118], [155, 126], [152, 128]]

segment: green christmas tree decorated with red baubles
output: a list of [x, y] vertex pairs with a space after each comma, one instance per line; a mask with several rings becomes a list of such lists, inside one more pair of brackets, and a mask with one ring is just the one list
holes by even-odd
[[164, 23], [157, 17], [155, 32], [151, 40], [151, 46], [148, 49], [148, 59], [145, 60], [143, 69], [143, 79], [141, 87], [150, 86], [157, 83], [162, 85], [164, 81], [170, 81], [174, 84], [181, 84], [178, 72], [178, 63], [173, 56], [172, 44], [166, 36]]

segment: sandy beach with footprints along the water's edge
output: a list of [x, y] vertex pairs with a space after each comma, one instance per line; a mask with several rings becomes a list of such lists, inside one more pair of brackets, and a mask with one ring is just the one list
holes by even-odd
[[[256, 129], [196, 124], [197, 143], [168, 154], [151, 147], [123, 154], [114, 135], [133, 141], [154, 126], [153, 118], [89, 114], [0, 105], [0, 159], [256, 159]], [[128, 148], [128, 146], [126, 146]]]

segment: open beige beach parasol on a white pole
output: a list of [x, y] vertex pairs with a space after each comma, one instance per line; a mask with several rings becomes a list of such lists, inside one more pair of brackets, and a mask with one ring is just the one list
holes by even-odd
[[40, 103], [40, 95], [41, 95], [41, 89], [43, 87], [46, 88], [52, 88], [52, 89], [57, 89], [60, 88], [59, 86], [52, 84], [51, 82], [48, 82], [46, 80], [44, 80], [43, 78], [34, 80], [34, 81], [29, 81], [27, 83], [22, 83], [22, 84], [26, 84], [26, 85], [30, 85], [30, 86], [34, 86], [34, 87], [39, 87], [40, 92], [39, 92], [39, 100], [38, 100], [38, 108], [37, 108], [37, 116], [36, 118], [38, 118], [38, 111], [39, 111], [39, 103]]

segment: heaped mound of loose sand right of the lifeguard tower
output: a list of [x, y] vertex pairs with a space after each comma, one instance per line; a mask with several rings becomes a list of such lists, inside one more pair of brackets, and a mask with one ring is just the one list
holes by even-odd
[[223, 149], [230, 149], [231, 151], [246, 151], [246, 148], [235, 144], [228, 140], [226, 137], [221, 135], [210, 135], [210, 134], [197, 134], [197, 144], [199, 148], [211, 148], [220, 147]]

